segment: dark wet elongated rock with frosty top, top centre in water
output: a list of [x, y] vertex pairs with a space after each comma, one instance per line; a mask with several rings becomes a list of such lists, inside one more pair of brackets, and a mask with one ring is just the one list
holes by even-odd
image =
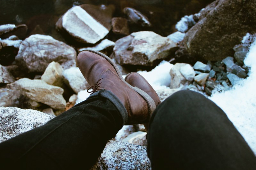
[[126, 7], [124, 8], [124, 13], [128, 16], [128, 21], [132, 24], [140, 24], [141, 26], [151, 26], [148, 18], [143, 15], [140, 11], [134, 8]]

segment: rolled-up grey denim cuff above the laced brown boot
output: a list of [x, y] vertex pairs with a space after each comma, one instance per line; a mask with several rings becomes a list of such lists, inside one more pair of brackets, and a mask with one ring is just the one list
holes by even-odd
[[117, 110], [119, 111], [120, 115], [122, 116], [124, 122], [123, 125], [128, 121], [128, 113], [126, 108], [124, 107], [123, 103], [116, 97], [115, 94], [113, 94], [112, 92], [108, 91], [108, 90], [100, 90], [98, 92], [95, 92], [93, 94], [91, 94], [87, 99], [90, 99], [92, 97], [104, 97], [106, 99], [108, 99], [109, 101], [111, 101], [115, 107], [117, 108]]

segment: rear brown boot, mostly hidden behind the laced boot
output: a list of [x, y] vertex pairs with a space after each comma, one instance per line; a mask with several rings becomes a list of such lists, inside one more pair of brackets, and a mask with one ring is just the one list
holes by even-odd
[[[124, 80], [132, 85], [133, 87], [138, 87], [139, 89], [146, 92], [155, 102], [156, 107], [161, 103], [156, 91], [153, 87], [148, 83], [148, 81], [142, 77], [139, 73], [132, 72], [127, 74]], [[143, 124], [145, 129], [148, 131], [148, 123]]]

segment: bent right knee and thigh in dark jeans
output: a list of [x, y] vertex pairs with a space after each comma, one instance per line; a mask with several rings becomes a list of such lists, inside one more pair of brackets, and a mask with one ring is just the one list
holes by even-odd
[[192, 91], [168, 97], [148, 130], [152, 169], [256, 169], [256, 157], [227, 115]]

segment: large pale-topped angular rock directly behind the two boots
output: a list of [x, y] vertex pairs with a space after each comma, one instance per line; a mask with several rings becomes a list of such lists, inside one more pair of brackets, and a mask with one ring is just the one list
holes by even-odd
[[117, 63], [153, 66], [175, 50], [177, 44], [151, 31], [132, 33], [116, 41], [114, 56]]

